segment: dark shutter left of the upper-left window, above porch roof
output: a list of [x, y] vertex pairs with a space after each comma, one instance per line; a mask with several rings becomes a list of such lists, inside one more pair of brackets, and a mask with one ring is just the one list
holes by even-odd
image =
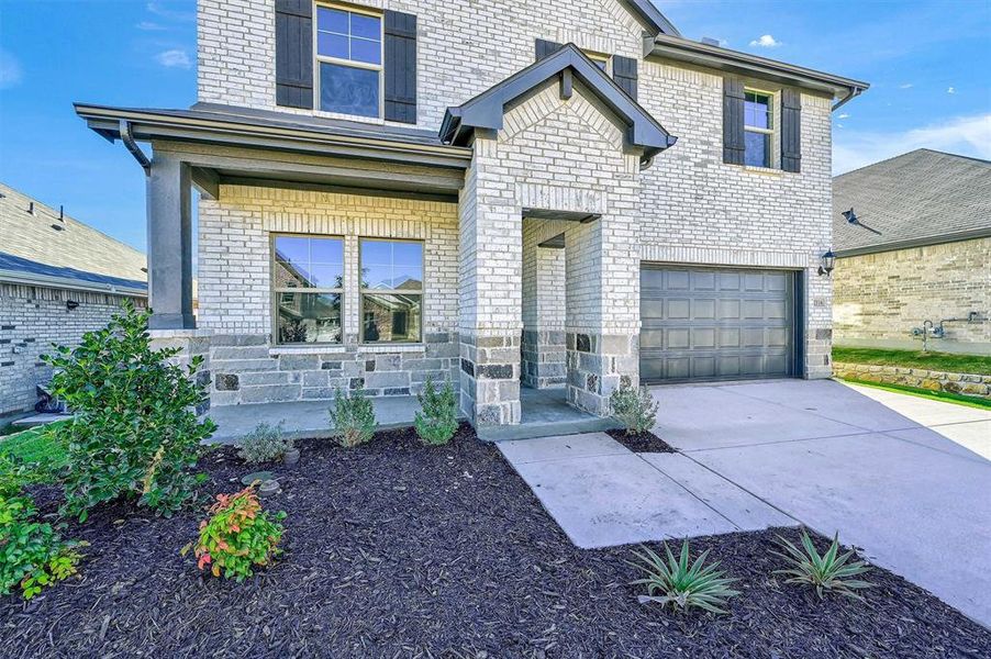
[[276, 104], [313, 108], [312, 0], [276, 0]]

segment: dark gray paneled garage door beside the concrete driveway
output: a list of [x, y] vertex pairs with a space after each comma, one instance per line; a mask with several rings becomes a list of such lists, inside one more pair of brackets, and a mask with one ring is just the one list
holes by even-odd
[[641, 270], [641, 379], [780, 378], [793, 372], [794, 275], [649, 266]]

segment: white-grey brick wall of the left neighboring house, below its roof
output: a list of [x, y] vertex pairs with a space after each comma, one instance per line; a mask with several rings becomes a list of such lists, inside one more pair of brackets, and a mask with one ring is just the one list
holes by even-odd
[[[67, 309], [69, 300], [79, 306]], [[51, 354], [52, 344], [77, 346], [85, 333], [104, 327], [123, 300], [104, 293], [0, 283], [0, 414], [33, 410], [35, 386], [52, 379], [52, 369], [41, 355]], [[132, 300], [144, 306], [144, 299]]]

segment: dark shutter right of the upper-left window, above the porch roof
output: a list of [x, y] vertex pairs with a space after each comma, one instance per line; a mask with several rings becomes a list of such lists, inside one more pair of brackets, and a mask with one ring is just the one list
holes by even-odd
[[416, 16], [386, 11], [386, 119], [416, 123]]

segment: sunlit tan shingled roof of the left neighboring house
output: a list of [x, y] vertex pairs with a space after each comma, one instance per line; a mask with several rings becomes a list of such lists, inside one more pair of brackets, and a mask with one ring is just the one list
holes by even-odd
[[[34, 202], [34, 212], [31, 204]], [[58, 227], [58, 228], [56, 228]], [[0, 183], [0, 280], [145, 294], [145, 255]]]

